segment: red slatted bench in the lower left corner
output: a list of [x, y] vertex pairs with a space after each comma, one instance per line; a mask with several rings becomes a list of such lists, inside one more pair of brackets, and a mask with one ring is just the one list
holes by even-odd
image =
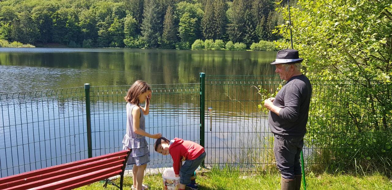
[[[0, 190], [67, 190], [105, 180], [122, 190], [131, 149], [0, 178]], [[120, 175], [120, 186], [108, 178]]]

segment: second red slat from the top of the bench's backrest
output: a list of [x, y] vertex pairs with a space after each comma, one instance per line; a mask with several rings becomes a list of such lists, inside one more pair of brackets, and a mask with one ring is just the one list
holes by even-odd
[[0, 185], [0, 189], [7, 188], [11, 186], [28, 186], [33, 188], [36, 186], [41, 186], [47, 183], [53, 183], [55, 181], [64, 180], [74, 176], [80, 176], [83, 174], [88, 174], [97, 170], [102, 170], [105, 168], [110, 168], [117, 166], [121, 168], [125, 158], [118, 160], [118, 158], [105, 159], [103, 161], [95, 161], [94, 163], [87, 163], [82, 166], [75, 166], [72, 168], [66, 168], [58, 172], [51, 172], [43, 175], [33, 176], [25, 179], [20, 179], [18, 181], [9, 182], [7, 184]]

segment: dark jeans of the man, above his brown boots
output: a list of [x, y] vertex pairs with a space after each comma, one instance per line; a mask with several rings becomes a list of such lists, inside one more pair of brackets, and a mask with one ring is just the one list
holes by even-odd
[[299, 164], [300, 153], [303, 147], [303, 136], [282, 136], [275, 134], [274, 154], [276, 166], [285, 179], [294, 179], [301, 175]]

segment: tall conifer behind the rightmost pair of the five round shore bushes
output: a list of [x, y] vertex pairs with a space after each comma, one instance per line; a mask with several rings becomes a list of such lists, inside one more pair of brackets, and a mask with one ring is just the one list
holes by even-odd
[[227, 25], [227, 34], [229, 39], [233, 42], [242, 41], [243, 28], [244, 28], [244, 13], [245, 4], [244, 0], [234, 0], [231, 11], [229, 14], [229, 24]]

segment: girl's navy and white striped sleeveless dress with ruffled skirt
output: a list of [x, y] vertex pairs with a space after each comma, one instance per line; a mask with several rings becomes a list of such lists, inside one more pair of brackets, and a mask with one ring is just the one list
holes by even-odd
[[[127, 165], [136, 164], [137, 166], [144, 165], [150, 162], [150, 151], [148, 150], [148, 143], [146, 137], [136, 134], [133, 131], [133, 116], [132, 109], [136, 105], [127, 103], [127, 133], [123, 138], [123, 150], [131, 148], [132, 152], [127, 160]], [[145, 131], [145, 118], [142, 108], [140, 108], [140, 122], [139, 127]]]

